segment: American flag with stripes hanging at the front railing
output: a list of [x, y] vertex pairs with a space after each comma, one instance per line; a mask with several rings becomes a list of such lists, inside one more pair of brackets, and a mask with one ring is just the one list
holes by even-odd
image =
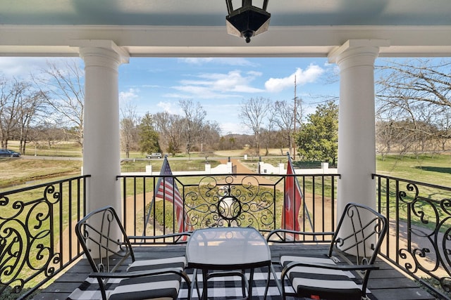
[[[160, 175], [172, 176], [171, 167], [169, 167], [168, 158], [164, 157], [163, 166], [161, 166]], [[174, 204], [175, 215], [177, 216], [178, 232], [183, 233], [184, 231], [194, 230], [191, 224], [188, 224], [187, 214], [185, 214], [183, 207], [183, 198], [178, 191], [177, 184], [174, 182], [173, 177], [160, 177], [156, 185], [156, 197], [163, 200], [167, 200]], [[184, 218], [185, 216], [185, 218]], [[185, 226], [183, 221], [185, 220]]]

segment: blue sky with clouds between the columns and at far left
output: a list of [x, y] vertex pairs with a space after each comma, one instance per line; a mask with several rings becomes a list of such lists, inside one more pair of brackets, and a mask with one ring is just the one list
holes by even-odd
[[[27, 77], [47, 63], [80, 58], [0, 58], [4, 77]], [[238, 117], [249, 98], [271, 101], [302, 99], [306, 115], [318, 103], [338, 97], [337, 65], [326, 58], [130, 58], [119, 67], [120, 105], [132, 105], [142, 116], [167, 111], [182, 115], [178, 102], [199, 102], [206, 120], [221, 134], [249, 133]]]

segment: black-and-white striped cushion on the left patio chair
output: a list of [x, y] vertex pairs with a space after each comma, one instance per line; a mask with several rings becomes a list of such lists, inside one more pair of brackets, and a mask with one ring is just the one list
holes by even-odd
[[[185, 256], [169, 259], [147, 259], [134, 261], [128, 267], [128, 272], [139, 270], [157, 270], [161, 268], [185, 269]], [[177, 299], [181, 278], [177, 274], [144, 276], [140, 278], [123, 279], [118, 287], [111, 292], [109, 300], [123, 299]]]

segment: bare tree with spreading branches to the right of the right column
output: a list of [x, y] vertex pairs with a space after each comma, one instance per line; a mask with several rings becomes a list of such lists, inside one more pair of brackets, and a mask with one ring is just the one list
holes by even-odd
[[[451, 108], [451, 74], [449, 60], [414, 59], [389, 62], [378, 67], [381, 74], [376, 93], [378, 124], [402, 125], [409, 142], [398, 146], [404, 151], [424, 151], [440, 136], [450, 136], [447, 111]], [[438, 129], [442, 130], [438, 130]], [[386, 132], [379, 130], [378, 133]], [[386, 141], [396, 141], [390, 139]], [[443, 142], [442, 142], [443, 143]], [[406, 146], [409, 145], [409, 149]], [[390, 147], [389, 147], [390, 148]]]

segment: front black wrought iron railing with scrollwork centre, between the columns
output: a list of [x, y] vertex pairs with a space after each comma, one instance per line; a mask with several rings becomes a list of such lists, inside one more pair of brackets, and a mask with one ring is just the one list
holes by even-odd
[[[183, 199], [185, 228], [252, 226], [268, 232], [285, 228], [282, 223], [285, 186], [294, 175], [216, 174], [209, 176], [118, 176], [122, 180], [123, 220], [128, 235], [161, 235], [178, 232], [173, 202], [174, 178]], [[299, 216], [301, 230], [329, 231], [335, 227], [337, 174], [296, 175], [304, 193]], [[159, 182], [159, 178], [162, 180]], [[172, 183], [172, 181], [171, 181]], [[154, 191], [161, 185], [160, 195]], [[164, 188], [163, 188], [164, 187]], [[168, 201], [163, 201], [166, 199]], [[294, 205], [292, 209], [294, 210]], [[294, 218], [291, 214], [285, 218]]]

